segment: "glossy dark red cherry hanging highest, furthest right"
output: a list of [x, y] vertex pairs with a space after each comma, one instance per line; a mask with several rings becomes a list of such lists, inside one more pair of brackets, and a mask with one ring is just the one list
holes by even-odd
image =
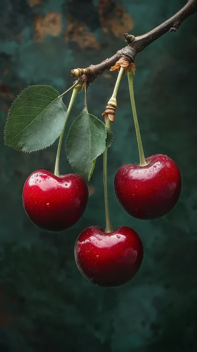
[[122, 165], [116, 172], [114, 189], [120, 205], [129, 215], [155, 220], [166, 215], [177, 203], [181, 174], [167, 155], [152, 155], [146, 161], [146, 166]]

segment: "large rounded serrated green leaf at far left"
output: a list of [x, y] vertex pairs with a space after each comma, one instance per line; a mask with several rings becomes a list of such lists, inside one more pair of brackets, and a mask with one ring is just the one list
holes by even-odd
[[31, 85], [13, 103], [5, 127], [5, 144], [31, 152], [49, 147], [59, 137], [67, 109], [50, 85]]

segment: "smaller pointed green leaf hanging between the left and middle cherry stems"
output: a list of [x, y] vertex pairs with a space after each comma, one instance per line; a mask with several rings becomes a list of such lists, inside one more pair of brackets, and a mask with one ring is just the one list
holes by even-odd
[[66, 138], [66, 153], [73, 169], [86, 181], [90, 180], [97, 156], [106, 147], [104, 123], [84, 109], [72, 123]]

